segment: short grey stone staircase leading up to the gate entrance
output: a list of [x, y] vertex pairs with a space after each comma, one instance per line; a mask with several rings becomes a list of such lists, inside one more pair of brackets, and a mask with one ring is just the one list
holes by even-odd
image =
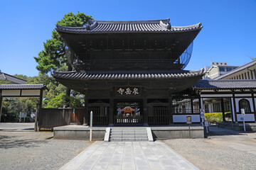
[[[151, 141], [152, 137], [147, 128], [110, 128], [109, 141], [113, 142], [133, 142], [133, 141]], [[151, 130], [150, 130], [151, 133]], [[150, 139], [149, 139], [150, 138]], [[152, 138], [153, 140], [153, 138]]]

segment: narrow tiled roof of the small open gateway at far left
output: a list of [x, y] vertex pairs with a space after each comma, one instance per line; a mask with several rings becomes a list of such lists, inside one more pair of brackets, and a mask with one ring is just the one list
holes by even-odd
[[0, 84], [0, 89], [5, 89], [5, 90], [46, 89], [46, 86], [44, 84]]

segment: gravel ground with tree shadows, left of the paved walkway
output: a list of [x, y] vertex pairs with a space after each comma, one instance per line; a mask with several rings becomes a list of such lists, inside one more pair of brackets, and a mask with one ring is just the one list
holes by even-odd
[[53, 140], [53, 132], [0, 132], [0, 169], [60, 169], [92, 142]]

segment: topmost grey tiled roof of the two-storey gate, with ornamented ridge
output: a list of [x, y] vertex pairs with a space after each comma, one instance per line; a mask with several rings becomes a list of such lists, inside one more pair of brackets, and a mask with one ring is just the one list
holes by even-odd
[[193, 26], [171, 26], [169, 18], [150, 21], [89, 21], [85, 27], [56, 25], [56, 30], [65, 33], [151, 33], [186, 32], [201, 30], [201, 23]]

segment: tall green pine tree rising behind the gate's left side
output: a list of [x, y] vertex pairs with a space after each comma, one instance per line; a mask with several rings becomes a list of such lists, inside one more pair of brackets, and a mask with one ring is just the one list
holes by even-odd
[[[60, 26], [69, 27], [82, 27], [85, 26], [92, 16], [87, 16], [85, 13], [78, 13], [75, 15], [73, 12], [65, 14], [64, 17], [57, 22]], [[60, 37], [56, 30], [52, 32], [52, 38], [43, 43], [44, 49], [39, 52], [38, 57], [34, 57], [38, 62], [38, 69], [41, 73], [47, 74], [54, 70], [72, 71], [73, 61], [75, 54], [65, 44], [63, 38]], [[66, 89], [66, 94], [70, 96], [70, 89]], [[67, 101], [69, 103], [69, 101]]]

